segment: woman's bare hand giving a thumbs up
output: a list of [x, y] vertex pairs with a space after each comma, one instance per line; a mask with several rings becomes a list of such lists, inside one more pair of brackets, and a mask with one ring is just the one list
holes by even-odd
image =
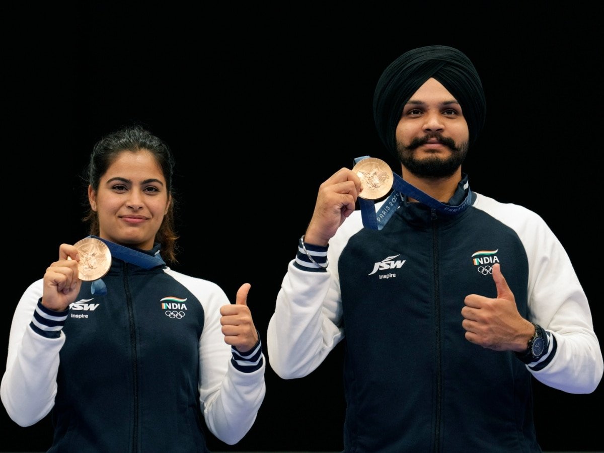
[[246, 353], [258, 342], [258, 332], [248, 308], [248, 292], [251, 284], [243, 283], [237, 291], [234, 304], [220, 307], [220, 324], [225, 343]]

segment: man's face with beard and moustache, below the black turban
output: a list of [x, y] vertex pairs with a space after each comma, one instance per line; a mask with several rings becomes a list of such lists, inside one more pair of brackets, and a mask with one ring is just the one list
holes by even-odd
[[461, 106], [436, 79], [428, 79], [403, 107], [396, 147], [403, 167], [420, 178], [447, 178], [460, 169], [469, 146]]

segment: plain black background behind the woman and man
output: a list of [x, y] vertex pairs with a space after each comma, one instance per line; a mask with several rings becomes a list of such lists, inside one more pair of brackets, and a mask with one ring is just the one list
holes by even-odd
[[[87, 234], [79, 175], [92, 144], [133, 120], [176, 155], [182, 251], [174, 267], [215, 281], [233, 300], [249, 281], [265, 341], [318, 185], [362, 155], [397, 169], [374, 130], [373, 89], [388, 63], [428, 44], [460, 48], [483, 80], [486, 126], [464, 164], [472, 190], [544, 217], [576, 267], [602, 343], [599, 3], [165, 3], [4, 7], [5, 347], [22, 292], [60, 243]], [[283, 381], [267, 367], [251, 431], [235, 446], [210, 435], [210, 447], [341, 449], [340, 346], [303, 379]], [[603, 449], [594, 418], [602, 385], [588, 395], [537, 382], [535, 390], [545, 451]], [[21, 428], [2, 408], [0, 425], [1, 451], [51, 443], [48, 417]]]

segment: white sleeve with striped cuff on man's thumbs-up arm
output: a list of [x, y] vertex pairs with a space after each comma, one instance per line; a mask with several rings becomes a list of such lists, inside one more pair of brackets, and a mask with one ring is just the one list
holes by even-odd
[[528, 257], [528, 320], [546, 330], [548, 351], [527, 365], [539, 382], [567, 393], [591, 393], [604, 361], [590, 305], [570, 257], [553, 231], [524, 207], [480, 196], [475, 207], [510, 225]]

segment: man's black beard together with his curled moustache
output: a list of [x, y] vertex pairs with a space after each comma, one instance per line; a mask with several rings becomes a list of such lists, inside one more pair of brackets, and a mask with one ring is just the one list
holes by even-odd
[[[449, 147], [451, 156], [446, 159], [438, 156], [416, 159], [415, 150], [425, 143], [428, 143], [430, 138], [437, 138], [440, 143]], [[399, 155], [400, 163], [407, 170], [419, 178], [448, 178], [452, 176], [466, 159], [469, 145], [464, 141], [460, 145], [455, 144], [451, 138], [442, 137], [440, 134], [426, 135], [423, 138], [414, 138], [409, 146], [404, 146], [402, 143], [396, 143], [397, 154]]]

